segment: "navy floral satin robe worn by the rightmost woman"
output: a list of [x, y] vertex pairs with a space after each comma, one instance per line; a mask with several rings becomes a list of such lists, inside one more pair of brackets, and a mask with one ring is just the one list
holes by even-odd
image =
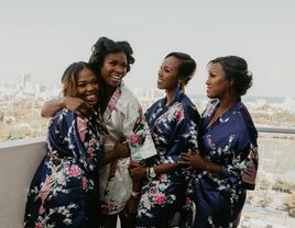
[[195, 227], [237, 227], [247, 190], [254, 189], [258, 170], [258, 133], [241, 101], [207, 127], [219, 106], [206, 107], [198, 132], [200, 156], [222, 167], [223, 175], [201, 171], [195, 179]]

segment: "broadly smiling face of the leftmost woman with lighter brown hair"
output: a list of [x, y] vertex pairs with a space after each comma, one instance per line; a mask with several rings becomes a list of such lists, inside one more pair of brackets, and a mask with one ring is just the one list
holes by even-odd
[[98, 81], [95, 73], [84, 68], [78, 72], [77, 77], [77, 96], [83, 99], [90, 105], [95, 105], [98, 101]]

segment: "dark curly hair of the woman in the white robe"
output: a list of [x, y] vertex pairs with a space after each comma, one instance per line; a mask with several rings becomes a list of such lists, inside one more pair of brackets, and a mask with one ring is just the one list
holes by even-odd
[[103, 64], [105, 57], [110, 53], [124, 53], [127, 57], [127, 72], [130, 71], [130, 65], [134, 64], [133, 50], [128, 42], [114, 42], [107, 37], [100, 37], [92, 46], [92, 54], [89, 64], [94, 66], [97, 72]]

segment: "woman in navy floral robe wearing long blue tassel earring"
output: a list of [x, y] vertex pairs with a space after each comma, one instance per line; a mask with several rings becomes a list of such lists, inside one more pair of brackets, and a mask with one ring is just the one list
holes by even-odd
[[182, 213], [182, 221], [187, 221], [182, 226], [189, 227], [192, 221], [192, 202], [185, 197], [188, 175], [179, 161], [182, 151], [197, 150], [199, 114], [184, 94], [195, 69], [189, 55], [171, 53], [159, 71], [157, 87], [166, 90], [166, 96], [145, 113], [157, 155], [146, 161], [146, 167], [131, 169], [131, 176], [143, 179], [136, 227], [167, 227], [176, 212], [185, 212], [183, 206], [190, 212], [190, 220]]

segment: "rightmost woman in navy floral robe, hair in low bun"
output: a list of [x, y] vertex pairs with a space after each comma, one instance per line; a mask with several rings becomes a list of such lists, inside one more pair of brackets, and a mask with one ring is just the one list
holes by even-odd
[[194, 227], [238, 227], [247, 190], [254, 189], [258, 133], [241, 102], [252, 84], [244, 59], [220, 57], [209, 62], [207, 95], [214, 99], [201, 115], [199, 155], [183, 155], [198, 170], [194, 192]]

